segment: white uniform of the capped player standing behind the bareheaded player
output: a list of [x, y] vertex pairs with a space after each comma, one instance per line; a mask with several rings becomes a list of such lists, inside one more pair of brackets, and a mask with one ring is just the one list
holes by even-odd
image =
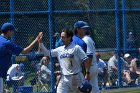
[[83, 41], [87, 44], [87, 55], [93, 55], [92, 66], [90, 68], [90, 84], [92, 85], [91, 93], [100, 93], [98, 87], [98, 66], [95, 55], [95, 43], [88, 35], [84, 36]]

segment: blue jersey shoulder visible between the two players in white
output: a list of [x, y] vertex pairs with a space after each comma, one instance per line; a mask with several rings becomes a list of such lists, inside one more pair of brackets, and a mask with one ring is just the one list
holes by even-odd
[[76, 35], [74, 35], [72, 39], [73, 39], [73, 43], [79, 45], [84, 50], [84, 52], [86, 53], [87, 44], [80, 37], [78, 37]]

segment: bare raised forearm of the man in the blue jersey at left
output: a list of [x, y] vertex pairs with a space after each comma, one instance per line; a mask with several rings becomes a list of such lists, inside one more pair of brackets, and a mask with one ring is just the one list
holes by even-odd
[[36, 37], [36, 39], [29, 46], [27, 46], [26, 48], [24, 48], [21, 53], [22, 54], [29, 53], [31, 51], [31, 49], [34, 47], [34, 45], [37, 43], [37, 41], [42, 37], [42, 35], [43, 35], [43, 33], [40, 32], [38, 34], [38, 36]]

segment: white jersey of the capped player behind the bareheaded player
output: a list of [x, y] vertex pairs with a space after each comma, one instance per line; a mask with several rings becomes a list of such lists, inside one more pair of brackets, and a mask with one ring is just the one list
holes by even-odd
[[87, 44], [87, 51], [86, 51], [86, 54], [87, 55], [93, 55], [93, 60], [92, 60], [92, 64], [93, 63], [97, 63], [96, 62], [96, 56], [95, 56], [95, 43], [94, 41], [92, 40], [92, 38], [88, 35], [84, 36], [83, 38], [83, 41]]

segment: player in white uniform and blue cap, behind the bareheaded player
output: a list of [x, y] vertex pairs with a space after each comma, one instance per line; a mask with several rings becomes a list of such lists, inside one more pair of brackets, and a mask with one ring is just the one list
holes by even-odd
[[92, 93], [100, 93], [98, 87], [98, 66], [95, 56], [95, 43], [89, 36], [90, 26], [84, 21], [78, 21], [74, 24], [74, 28], [78, 28], [82, 40], [87, 44], [86, 54], [91, 62], [90, 67], [90, 84], [92, 85]]

